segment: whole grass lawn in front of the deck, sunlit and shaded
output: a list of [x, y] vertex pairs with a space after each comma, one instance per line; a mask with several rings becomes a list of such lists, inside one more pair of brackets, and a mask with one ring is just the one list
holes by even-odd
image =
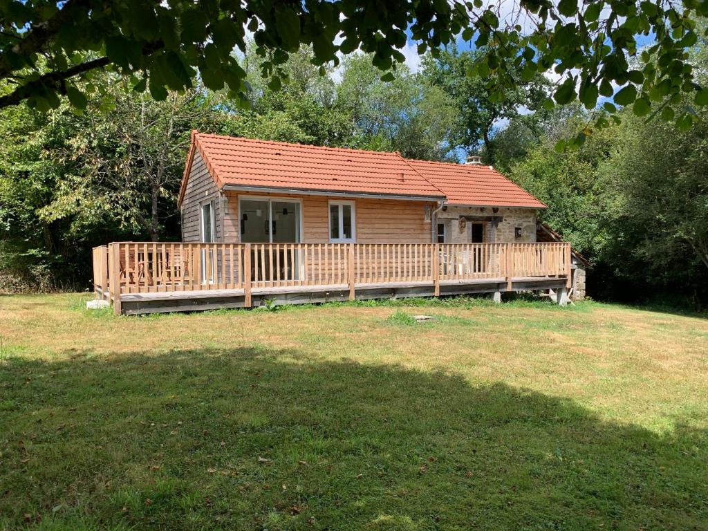
[[708, 529], [707, 319], [85, 299], [0, 297], [0, 530]]

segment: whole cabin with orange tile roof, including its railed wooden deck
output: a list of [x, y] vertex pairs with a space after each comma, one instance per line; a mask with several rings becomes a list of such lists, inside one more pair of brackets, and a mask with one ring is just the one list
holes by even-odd
[[536, 241], [545, 205], [474, 157], [194, 131], [178, 207], [181, 242], [94, 250], [116, 312], [529, 289], [566, 302], [569, 245]]

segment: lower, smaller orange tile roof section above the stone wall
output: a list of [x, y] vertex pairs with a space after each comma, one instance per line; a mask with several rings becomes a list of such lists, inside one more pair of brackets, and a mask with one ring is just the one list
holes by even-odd
[[448, 205], [545, 208], [542, 202], [489, 166], [413, 161], [411, 166], [445, 192]]

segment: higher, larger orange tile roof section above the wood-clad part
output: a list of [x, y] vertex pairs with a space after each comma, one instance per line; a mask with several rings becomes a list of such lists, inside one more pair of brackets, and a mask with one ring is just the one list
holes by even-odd
[[397, 153], [319, 147], [196, 133], [219, 188], [282, 188], [444, 198]]

